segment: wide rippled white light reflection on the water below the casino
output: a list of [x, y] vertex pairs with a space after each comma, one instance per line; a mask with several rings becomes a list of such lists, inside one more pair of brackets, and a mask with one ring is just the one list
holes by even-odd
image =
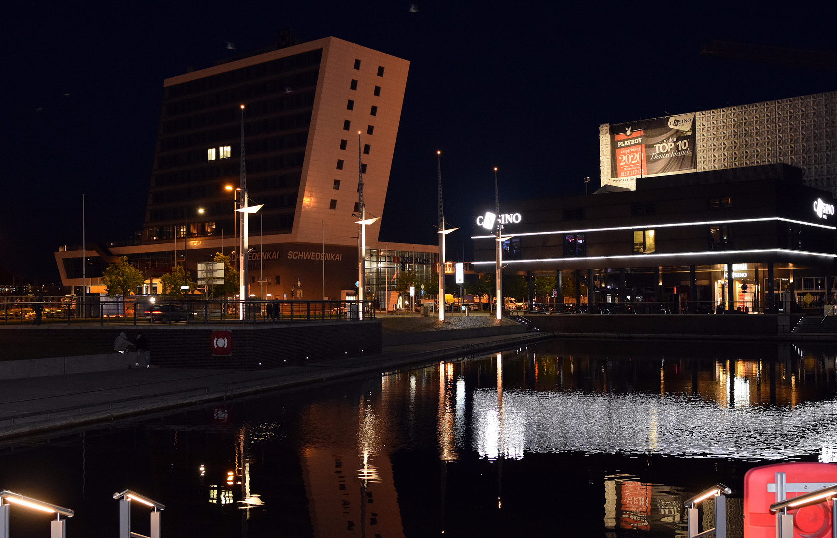
[[[747, 394], [737, 391], [738, 395]], [[497, 458], [529, 452], [659, 453], [784, 460], [837, 459], [837, 399], [795, 407], [735, 406], [691, 396], [475, 389], [474, 449]]]

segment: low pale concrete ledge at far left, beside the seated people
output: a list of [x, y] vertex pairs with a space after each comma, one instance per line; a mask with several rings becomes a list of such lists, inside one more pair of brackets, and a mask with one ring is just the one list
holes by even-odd
[[[148, 354], [151, 358], [151, 354]], [[136, 364], [136, 353], [105, 353], [75, 355], [73, 357], [49, 357], [0, 361], [0, 380], [44, 375], [81, 374], [105, 370], [123, 370]]]

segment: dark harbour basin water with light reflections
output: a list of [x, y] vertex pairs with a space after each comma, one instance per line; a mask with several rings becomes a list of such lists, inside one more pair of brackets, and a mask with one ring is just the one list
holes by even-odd
[[0, 489], [76, 510], [69, 536], [115, 535], [125, 488], [167, 504], [167, 536], [685, 535], [711, 484], [837, 460], [835, 352], [549, 342], [7, 443]]

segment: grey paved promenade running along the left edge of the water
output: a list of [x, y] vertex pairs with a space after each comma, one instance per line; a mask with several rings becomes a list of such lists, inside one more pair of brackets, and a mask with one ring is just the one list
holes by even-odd
[[518, 349], [551, 337], [547, 333], [506, 334], [391, 345], [380, 354], [268, 370], [148, 368], [0, 380], [0, 439], [263, 391], [352, 380], [438, 360]]

